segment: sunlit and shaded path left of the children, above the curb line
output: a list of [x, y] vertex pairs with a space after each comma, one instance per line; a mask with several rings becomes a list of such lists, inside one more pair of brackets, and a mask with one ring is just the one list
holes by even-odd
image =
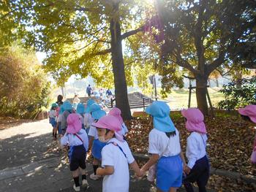
[[49, 152], [54, 144], [51, 132], [48, 120], [1, 123], [0, 169], [59, 155]]

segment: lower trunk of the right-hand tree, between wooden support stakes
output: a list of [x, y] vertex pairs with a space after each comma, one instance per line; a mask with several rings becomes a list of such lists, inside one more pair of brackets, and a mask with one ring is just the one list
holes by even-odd
[[203, 115], [208, 115], [208, 104], [206, 99], [207, 80], [207, 77], [196, 77], [197, 108], [203, 112]]

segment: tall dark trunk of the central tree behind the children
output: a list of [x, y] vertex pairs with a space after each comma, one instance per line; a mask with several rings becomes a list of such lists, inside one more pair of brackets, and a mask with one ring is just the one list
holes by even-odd
[[128, 120], [132, 118], [132, 115], [129, 109], [127, 80], [124, 73], [124, 58], [121, 45], [121, 28], [118, 19], [110, 21], [110, 34], [116, 107], [121, 110], [122, 117]]

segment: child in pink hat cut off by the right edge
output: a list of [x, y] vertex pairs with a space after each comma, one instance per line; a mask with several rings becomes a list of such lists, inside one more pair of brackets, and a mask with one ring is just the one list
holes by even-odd
[[[238, 110], [238, 112], [242, 115], [245, 120], [251, 120], [253, 123], [256, 123], [256, 105], [250, 104], [244, 108]], [[253, 149], [251, 155], [251, 161], [253, 164], [256, 164], [256, 137], [253, 142]]]

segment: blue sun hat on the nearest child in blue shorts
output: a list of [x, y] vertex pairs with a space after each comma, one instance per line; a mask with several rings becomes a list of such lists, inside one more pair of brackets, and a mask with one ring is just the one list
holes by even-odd
[[154, 101], [150, 106], [146, 107], [146, 113], [153, 116], [153, 126], [162, 132], [173, 132], [175, 126], [170, 119], [170, 107], [163, 101]]

